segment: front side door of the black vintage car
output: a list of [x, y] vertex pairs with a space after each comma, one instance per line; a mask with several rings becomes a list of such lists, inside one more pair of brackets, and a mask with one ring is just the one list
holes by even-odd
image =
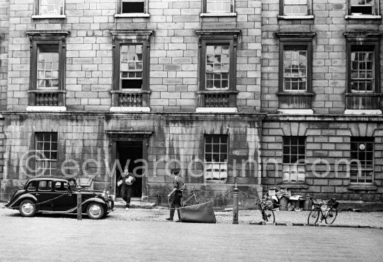
[[54, 183], [54, 196], [53, 210], [54, 212], [65, 212], [75, 208], [76, 194], [70, 190], [67, 181], [55, 181]]

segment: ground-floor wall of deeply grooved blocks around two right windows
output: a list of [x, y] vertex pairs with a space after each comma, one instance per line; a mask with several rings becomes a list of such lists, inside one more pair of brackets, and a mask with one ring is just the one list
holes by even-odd
[[[309, 117], [308, 117], [309, 118]], [[271, 120], [271, 121], [270, 121]], [[300, 121], [299, 121], [300, 120]], [[315, 199], [335, 197], [341, 200], [383, 199], [383, 123], [380, 119], [360, 118], [359, 122], [329, 117], [267, 118], [263, 123], [263, 178], [268, 187], [289, 187], [292, 193], [311, 195]], [[282, 154], [283, 136], [306, 137], [306, 183], [283, 185]], [[375, 137], [373, 190], [354, 190], [350, 187], [350, 173], [346, 161], [350, 161], [350, 137]], [[276, 160], [279, 164], [274, 164]], [[313, 164], [315, 163], [316, 164]], [[328, 163], [328, 165], [326, 164]], [[314, 174], [314, 169], [317, 174]], [[327, 171], [329, 170], [328, 174]]]

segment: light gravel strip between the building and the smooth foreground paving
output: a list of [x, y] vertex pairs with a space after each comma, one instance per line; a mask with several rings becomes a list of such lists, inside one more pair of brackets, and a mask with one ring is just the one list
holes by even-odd
[[[1, 217], [19, 217], [18, 210], [10, 210], [3, 208], [4, 203], [0, 203], [0, 219]], [[277, 223], [307, 223], [308, 211], [276, 211], [275, 222]], [[217, 223], [231, 224], [233, 222], [232, 211], [215, 211]], [[56, 217], [61, 219], [75, 219], [76, 215], [48, 215], [38, 214], [38, 217]], [[130, 221], [146, 221], [146, 222], [167, 222], [165, 219], [169, 217], [168, 208], [155, 208], [155, 209], [130, 209], [117, 208], [114, 212], [110, 213], [106, 220], [130, 220]], [[175, 215], [175, 218], [177, 215]], [[84, 216], [86, 219], [86, 216]], [[239, 223], [249, 224], [250, 222], [261, 222], [262, 217], [259, 210], [240, 210]], [[325, 224], [325, 222], [322, 222]], [[334, 225], [342, 226], [382, 226], [383, 227], [383, 213], [353, 213], [353, 212], [339, 212]]]

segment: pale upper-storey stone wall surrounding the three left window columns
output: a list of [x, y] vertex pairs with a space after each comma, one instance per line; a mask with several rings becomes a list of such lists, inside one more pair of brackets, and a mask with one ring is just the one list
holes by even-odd
[[154, 29], [150, 42], [152, 111], [195, 111], [198, 91], [196, 29], [242, 29], [237, 48], [237, 107], [260, 109], [260, 0], [235, 1], [236, 17], [200, 17], [202, 1], [148, 1], [150, 17], [114, 17], [117, 0], [66, 1], [65, 20], [32, 20], [33, 0], [11, 1], [8, 109], [25, 110], [30, 49], [26, 31], [69, 30], [65, 105], [68, 110], [111, 107], [112, 29]]

